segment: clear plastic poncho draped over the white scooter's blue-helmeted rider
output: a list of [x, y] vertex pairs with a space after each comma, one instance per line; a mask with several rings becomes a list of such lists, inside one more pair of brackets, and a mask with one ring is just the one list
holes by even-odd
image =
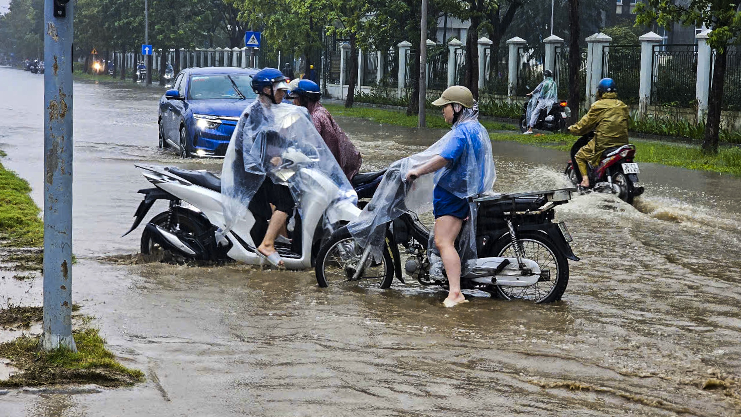
[[[219, 232], [219, 238], [245, 216], [262, 181], [288, 185], [296, 203], [310, 193], [326, 194], [331, 190], [330, 204], [357, 204], [355, 190], [314, 128], [308, 111], [285, 103], [263, 104], [258, 97], [239, 117], [224, 157], [225, 228]], [[254, 244], [249, 235], [242, 237]]]

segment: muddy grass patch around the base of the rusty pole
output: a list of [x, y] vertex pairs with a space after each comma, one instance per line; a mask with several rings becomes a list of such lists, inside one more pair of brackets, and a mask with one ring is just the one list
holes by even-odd
[[20, 370], [0, 381], [2, 387], [29, 387], [47, 384], [99, 384], [122, 387], [144, 381], [144, 373], [124, 367], [105, 348], [98, 329], [73, 332], [77, 352], [68, 349], [43, 352], [39, 338], [21, 336], [0, 344], [0, 357]]

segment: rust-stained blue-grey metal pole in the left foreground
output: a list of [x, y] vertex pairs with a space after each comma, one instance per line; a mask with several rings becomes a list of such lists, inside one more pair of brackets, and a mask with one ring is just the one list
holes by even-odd
[[41, 349], [77, 351], [72, 337], [72, 37], [70, 0], [44, 1], [44, 333]]

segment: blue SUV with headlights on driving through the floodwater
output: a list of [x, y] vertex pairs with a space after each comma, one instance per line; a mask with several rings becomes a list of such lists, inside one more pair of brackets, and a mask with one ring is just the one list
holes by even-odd
[[182, 70], [159, 100], [159, 147], [176, 148], [182, 158], [224, 156], [239, 116], [256, 97], [250, 83], [257, 71]]

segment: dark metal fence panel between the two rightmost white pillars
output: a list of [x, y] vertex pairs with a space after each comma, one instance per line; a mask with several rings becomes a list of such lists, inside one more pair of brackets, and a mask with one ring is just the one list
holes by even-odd
[[697, 85], [697, 45], [654, 45], [651, 104], [693, 107]]

